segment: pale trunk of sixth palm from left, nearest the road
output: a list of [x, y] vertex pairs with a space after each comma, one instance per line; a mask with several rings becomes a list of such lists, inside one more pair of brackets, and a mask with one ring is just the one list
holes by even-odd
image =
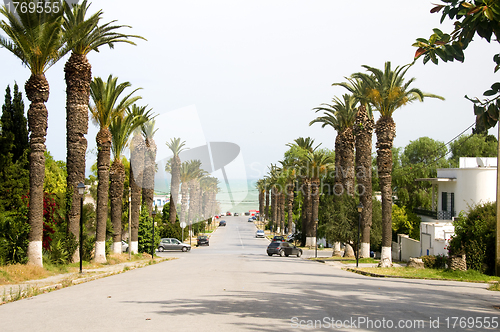
[[155, 129], [155, 121], [149, 120], [141, 126], [142, 136], [146, 144], [144, 151], [144, 180], [142, 190], [142, 201], [146, 204], [149, 216], [153, 212], [153, 200], [155, 193], [155, 173], [156, 173], [156, 143], [153, 139], [154, 134], [158, 129]]

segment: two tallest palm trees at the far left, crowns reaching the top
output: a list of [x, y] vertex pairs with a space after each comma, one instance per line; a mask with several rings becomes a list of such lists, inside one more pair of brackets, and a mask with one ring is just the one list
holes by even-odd
[[[22, 0], [22, 3], [34, 0]], [[28, 221], [30, 224], [28, 260], [42, 266], [43, 234], [43, 179], [45, 172], [44, 151], [47, 132], [48, 111], [45, 106], [49, 98], [49, 84], [45, 77], [47, 70], [67, 53], [71, 56], [65, 65], [67, 84], [67, 167], [68, 195], [71, 207], [68, 216], [68, 231], [78, 235], [80, 216], [76, 185], [85, 177], [85, 152], [87, 141], [84, 135], [88, 129], [88, 104], [91, 83], [91, 65], [87, 54], [98, 51], [103, 45], [113, 47], [115, 43], [134, 44], [130, 38], [142, 38], [116, 32], [123, 25], [114, 21], [100, 24], [102, 11], [90, 17], [90, 6], [86, 0], [71, 7], [65, 1], [46, 0], [52, 8], [64, 8], [58, 12], [36, 11], [11, 12], [5, 6], [0, 13], [5, 20], [0, 28], [7, 38], [0, 37], [0, 45], [18, 57], [31, 71], [25, 84], [30, 106], [28, 109], [28, 130], [30, 132], [30, 198]], [[27, 6], [28, 7], [28, 6]], [[106, 139], [106, 137], [103, 137]], [[107, 141], [103, 141], [107, 144]], [[77, 237], [78, 238], [78, 237]]]

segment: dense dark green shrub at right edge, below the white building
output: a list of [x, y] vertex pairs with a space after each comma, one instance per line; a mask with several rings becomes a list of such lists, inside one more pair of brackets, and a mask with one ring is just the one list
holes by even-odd
[[495, 270], [496, 203], [471, 207], [453, 222], [455, 236], [448, 247], [450, 255], [465, 253], [467, 268], [492, 275]]

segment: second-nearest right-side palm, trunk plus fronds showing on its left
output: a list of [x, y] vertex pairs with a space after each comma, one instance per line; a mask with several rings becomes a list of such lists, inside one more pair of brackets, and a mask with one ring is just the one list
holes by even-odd
[[356, 181], [361, 211], [361, 248], [360, 257], [370, 257], [370, 233], [372, 226], [372, 136], [375, 122], [370, 103], [365, 95], [367, 89], [363, 81], [347, 78], [348, 82], [334, 83], [346, 88], [360, 102], [356, 113], [353, 133], [356, 139]]

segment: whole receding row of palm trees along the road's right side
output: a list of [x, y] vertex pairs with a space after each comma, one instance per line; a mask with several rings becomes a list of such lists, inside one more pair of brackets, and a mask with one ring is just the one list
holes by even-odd
[[[405, 79], [412, 64], [391, 68], [386, 62], [384, 70], [363, 66], [367, 72], [358, 72], [346, 78], [346, 82], [333, 85], [344, 87], [349, 93], [342, 98], [334, 97], [331, 104], [322, 104], [314, 108], [323, 114], [310, 122], [321, 123], [322, 127], [331, 126], [337, 132], [335, 139], [335, 185], [334, 194], [359, 196], [363, 205], [361, 213], [362, 240], [361, 257], [370, 254], [370, 230], [372, 224], [372, 136], [377, 136], [377, 171], [382, 195], [382, 259], [381, 266], [390, 266], [392, 241], [392, 147], [396, 134], [396, 124], [392, 118], [394, 112], [413, 101], [423, 101], [425, 97], [440, 96], [424, 93], [411, 88], [414, 78]], [[374, 122], [373, 111], [380, 113]], [[268, 175], [258, 181], [259, 208], [262, 218], [281, 224], [280, 194], [292, 196], [293, 191], [303, 195], [301, 207], [302, 229], [306, 236], [306, 245], [314, 240], [314, 227], [318, 218], [319, 196], [321, 192], [321, 173], [318, 170], [331, 170], [331, 158], [313, 147], [310, 138], [299, 138], [288, 144], [290, 150], [279, 168], [271, 165]], [[306, 172], [304, 172], [306, 170]], [[316, 171], [317, 174], [314, 172]], [[285, 183], [285, 185], [284, 185]], [[286, 184], [294, 183], [294, 186]], [[282, 188], [292, 188], [290, 192]], [[269, 195], [270, 193], [270, 195]], [[271, 197], [271, 215], [268, 215], [268, 197]], [[264, 200], [266, 203], [264, 205]], [[293, 201], [288, 200], [288, 216], [293, 210]], [[290, 222], [289, 222], [289, 225]], [[283, 227], [281, 227], [283, 229]]]

